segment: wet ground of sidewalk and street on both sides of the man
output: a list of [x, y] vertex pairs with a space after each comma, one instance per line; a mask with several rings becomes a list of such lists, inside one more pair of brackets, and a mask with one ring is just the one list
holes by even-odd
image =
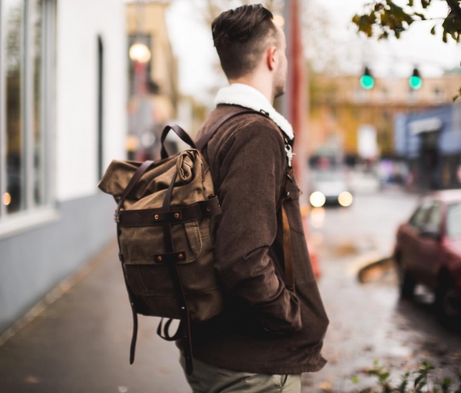
[[[430, 293], [418, 287], [415, 301], [399, 301], [391, 264], [367, 272], [365, 284], [357, 279], [365, 262], [389, 255], [396, 226], [416, 201], [397, 191], [373, 192], [357, 195], [348, 209], [311, 212], [310, 238], [331, 324], [323, 349], [328, 363], [303, 374], [303, 392], [358, 392], [374, 382], [365, 371], [375, 359], [395, 380], [422, 360], [442, 375], [461, 371], [461, 335], [440, 326]], [[140, 318], [129, 365], [131, 316], [118, 263], [113, 243], [0, 344], [0, 393], [190, 392], [177, 348], [156, 334], [158, 319]]]

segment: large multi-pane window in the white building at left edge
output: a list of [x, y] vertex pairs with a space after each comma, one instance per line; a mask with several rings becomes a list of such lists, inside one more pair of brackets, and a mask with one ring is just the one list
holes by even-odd
[[0, 0], [0, 226], [51, 202], [52, 6]]

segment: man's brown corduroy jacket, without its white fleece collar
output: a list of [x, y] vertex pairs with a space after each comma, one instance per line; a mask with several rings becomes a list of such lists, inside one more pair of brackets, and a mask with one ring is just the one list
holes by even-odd
[[[233, 109], [218, 105], [196, 140]], [[282, 214], [276, 210], [287, 162], [282, 131], [269, 118], [243, 114], [221, 126], [203, 154], [222, 209], [214, 253], [225, 309], [191, 326], [194, 358], [265, 374], [321, 370], [329, 321], [309, 259], [296, 180], [284, 202], [296, 294], [284, 284]]]

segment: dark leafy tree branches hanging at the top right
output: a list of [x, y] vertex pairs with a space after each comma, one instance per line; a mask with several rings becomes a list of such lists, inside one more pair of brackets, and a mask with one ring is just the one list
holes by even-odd
[[[448, 4], [448, 14], [442, 18], [441, 23], [443, 42], [447, 43], [450, 36], [459, 43], [461, 41], [461, 0], [406, 0], [405, 6], [399, 6], [392, 0], [372, 0], [367, 4], [365, 13], [353, 16], [352, 23], [357, 25], [359, 33], [365, 33], [367, 37], [378, 33], [378, 40], [387, 39], [391, 35], [400, 38], [401, 33], [408, 30], [416, 21], [431, 20], [426, 11], [432, 4], [435, 4], [435, 1], [445, 1]], [[431, 34], [435, 35], [437, 26], [438, 23], [435, 23], [431, 28]], [[453, 97], [453, 101], [459, 96], [461, 96], [461, 89]]]

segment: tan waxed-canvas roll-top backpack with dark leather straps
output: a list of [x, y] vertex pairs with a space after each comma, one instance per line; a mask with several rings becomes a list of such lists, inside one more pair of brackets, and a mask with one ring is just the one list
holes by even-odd
[[[191, 375], [191, 321], [206, 321], [223, 309], [213, 260], [216, 216], [221, 214], [221, 207], [200, 150], [224, 122], [249, 113], [267, 116], [237, 109], [220, 118], [196, 143], [181, 127], [166, 126], [161, 136], [161, 160], [113, 160], [98, 183], [99, 189], [111, 194], [117, 203], [113, 217], [118, 258], [133, 314], [130, 364], [135, 357], [138, 314], [160, 316], [158, 336], [166, 341], [184, 340], [186, 372]], [[164, 143], [171, 130], [191, 149], [168, 157]], [[288, 172], [287, 179], [291, 179]], [[279, 205], [289, 197], [287, 179]], [[294, 291], [289, 224], [282, 211], [287, 287]], [[168, 320], [162, 326], [164, 318]], [[170, 336], [174, 319], [180, 322]]]

